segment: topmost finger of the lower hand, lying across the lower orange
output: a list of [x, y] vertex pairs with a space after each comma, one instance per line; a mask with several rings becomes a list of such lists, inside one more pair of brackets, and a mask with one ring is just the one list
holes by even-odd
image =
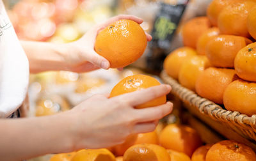
[[126, 93], [124, 95], [115, 96], [114, 98], [118, 100], [126, 100], [129, 105], [136, 106], [149, 102], [150, 100], [160, 96], [167, 95], [170, 93], [171, 89], [171, 86], [161, 84], [159, 86], [140, 89], [138, 91]]

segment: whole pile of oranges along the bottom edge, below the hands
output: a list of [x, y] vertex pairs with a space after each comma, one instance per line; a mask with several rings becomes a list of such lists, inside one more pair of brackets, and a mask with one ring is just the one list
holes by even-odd
[[[138, 134], [140, 135], [140, 134]], [[159, 142], [155, 142], [155, 140]], [[151, 142], [151, 143], [150, 143]], [[79, 150], [53, 155], [50, 161], [253, 161], [255, 152], [236, 141], [202, 145], [197, 132], [186, 125], [171, 124], [156, 132], [141, 134], [122, 156], [113, 148]], [[115, 155], [114, 155], [115, 154]], [[115, 157], [116, 156], [116, 157]]]

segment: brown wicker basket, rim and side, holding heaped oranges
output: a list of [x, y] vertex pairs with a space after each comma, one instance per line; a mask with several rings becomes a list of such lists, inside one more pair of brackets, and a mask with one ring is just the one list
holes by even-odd
[[185, 107], [192, 113], [200, 113], [205, 119], [214, 119], [214, 121], [220, 122], [221, 125], [232, 128], [232, 130], [244, 138], [253, 142], [256, 141], [256, 115], [249, 117], [237, 111], [227, 111], [220, 107], [220, 105], [214, 104], [214, 102], [184, 88], [164, 71], [161, 72], [161, 78], [164, 83], [172, 86], [172, 93], [179, 96], [180, 100], [184, 102]]

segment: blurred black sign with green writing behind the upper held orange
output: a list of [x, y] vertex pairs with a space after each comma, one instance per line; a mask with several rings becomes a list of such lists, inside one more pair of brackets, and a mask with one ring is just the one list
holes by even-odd
[[149, 70], [160, 71], [163, 68], [164, 58], [170, 52], [173, 35], [188, 4], [188, 0], [182, 1], [183, 3], [177, 5], [161, 3], [161, 9], [154, 20], [152, 40], [148, 44], [150, 50], [147, 53], [147, 68]]

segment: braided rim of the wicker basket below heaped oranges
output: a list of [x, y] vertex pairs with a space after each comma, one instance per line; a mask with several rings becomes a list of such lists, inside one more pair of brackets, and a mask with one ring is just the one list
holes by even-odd
[[[205, 114], [218, 121], [224, 121], [227, 123], [232, 123], [238, 127], [243, 127], [248, 130], [253, 130], [256, 132], [256, 114], [252, 116], [247, 116], [246, 114], [240, 114], [237, 111], [228, 111], [220, 107], [220, 105], [198, 96], [194, 91], [180, 85], [178, 81], [170, 77], [165, 70], [160, 74], [161, 79], [164, 83], [170, 84], [172, 86], [172, 93], [179, 96], [179, 98], [188, 102], [198, 109], [202, 114]], [[189, 99], [189, 100], [188, 100]], [[253, 129], [252, 129], [253, 128]]]

